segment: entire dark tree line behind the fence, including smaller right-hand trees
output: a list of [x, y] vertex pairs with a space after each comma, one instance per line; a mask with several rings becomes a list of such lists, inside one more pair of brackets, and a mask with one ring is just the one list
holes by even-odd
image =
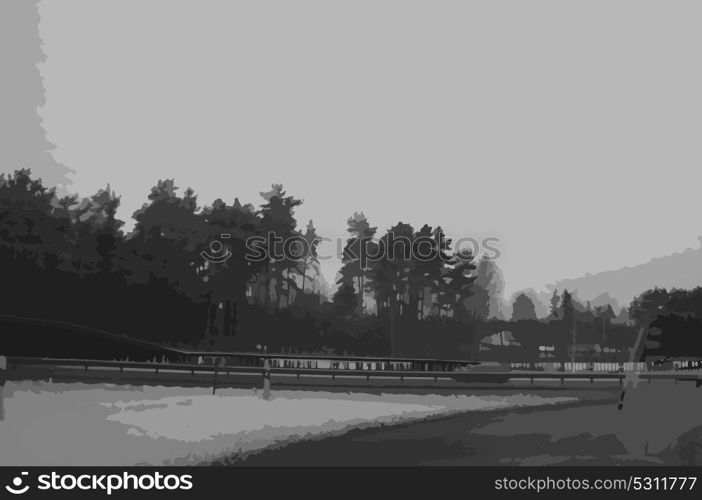
[[[329, 297], [320, 235], [295, 216], [302, 200], [277, 184], [260, 195], [257, 206], [201, 206], [192, 189], [160, 180], [127, 231], [109, 186], [86, 198], [58, 196], [29, 170], [0, 175], [0, 311], [198, 348], [359, 355], [476, 357], [481, 339], [504, 330], [529, 346], [519, 356], [550, 343], [565, 358], [582, 343], [626, 351], [633, 324], [661, 314], [668, 319], [659, 321], [681, 321], [671, 317], [680, 304], [697, 303], [685, 295], [693, 292], [656, 290], [615, 314], [564, 290], [538, 318], [535, 297], [521, 292], [508, 320], [494, 260], [454, 248], [439, 225], [398, 222], [379, 232], [362, 212], [347, 220]], [[271, 234], [307, 251], [250, 258], [252, 238]], [[661, 301], [654, 317], [651, 304]], [[685, 321], [699, 321], [696, 309], [688, 313]]]

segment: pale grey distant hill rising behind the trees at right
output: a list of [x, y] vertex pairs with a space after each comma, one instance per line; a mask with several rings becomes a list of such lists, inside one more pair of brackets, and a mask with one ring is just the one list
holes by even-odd
[[702, 247], [654, 258], [638, 266], [561, 280], [548, 288], [551, 292], [554, 288], [575, 291], [580, 300], [593, 301], [593, 306], [600, 305], [603, 297], [609, 295], [626, 307], [635, 296], [656, 286], [668, 289], [702, 286]]

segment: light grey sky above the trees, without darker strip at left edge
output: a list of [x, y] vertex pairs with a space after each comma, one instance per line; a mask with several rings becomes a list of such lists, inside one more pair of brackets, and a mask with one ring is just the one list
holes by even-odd
[[[302, 223], [500, 238], [508, 294], [702, 234], [702, 3], [43, 0], [40, 110], [71, 189], [158, 179]], [[324, 272], [333, 281], [336, 262]]]

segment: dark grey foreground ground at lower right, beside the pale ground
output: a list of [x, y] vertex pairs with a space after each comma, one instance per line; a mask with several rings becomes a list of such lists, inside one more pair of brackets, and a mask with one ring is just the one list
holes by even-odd
[[302, 441], [217, 464], [699, 465], [702, 390], [645, 384], [557, 407], [472, 412]]

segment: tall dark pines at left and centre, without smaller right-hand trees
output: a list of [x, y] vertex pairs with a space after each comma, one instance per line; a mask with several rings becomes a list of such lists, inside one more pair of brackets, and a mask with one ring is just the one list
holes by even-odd
[[[405, 250], [373, 262], [345, 257], [329, 301], [316, 253], [319, 235], [312, 221], [300, 226], [295, 217], [301, 203], [273, 185], [257, 207], [238, 199], [199, 206], [192, 189], [181, 192], [166, 179], [151, 188], [133, 214], [133, 229], [125, 231], [117, 217], [120, 198], [109, 185], [86, 198], [58, 196], [29, 170], [3, 174], [0, 266], [7, 286], [0, 310], [174, 344], [366, 354], [395, 352], [398, 324], [406, 326], [408, 318], [413, 325], [432, 322], [427, 331], [468, 321], [474, 259], [452, 253], [439, 227], [414, 231], [400, 223], [374, 243], [390, 232], [410, 244], [433, 236], [422, 262], [405, 258]], [[350, 219], [349, 231], [345, 256], [375, 234], [360, 214]], [[301, 238], [310, 252], [301, 259], [247, 258], [247, 241], [270, 234]], [[215, 240], [226, 252], [221, 263], [203, 257]], [[442, 340], [422, 342], [431, 353], [432, 343]]]

